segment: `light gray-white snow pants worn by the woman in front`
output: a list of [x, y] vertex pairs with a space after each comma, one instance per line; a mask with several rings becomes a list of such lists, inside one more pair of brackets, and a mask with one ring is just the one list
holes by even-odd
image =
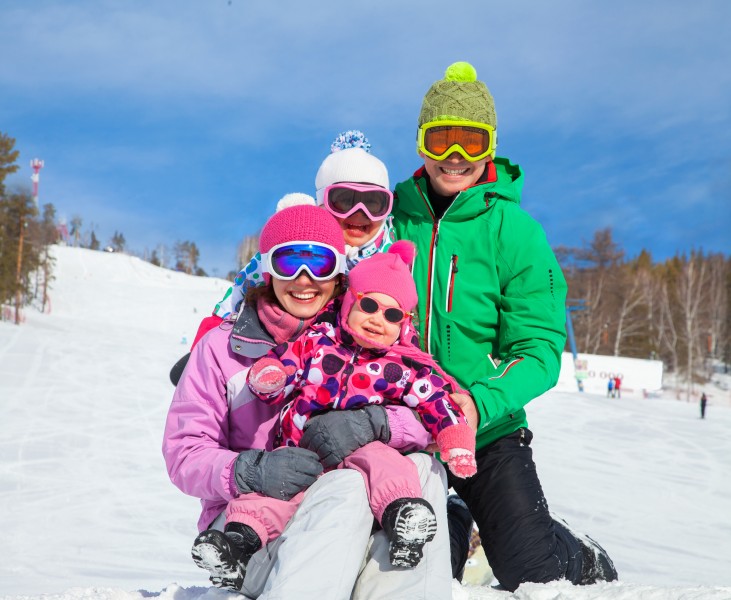
[[437, 533], [414, 569], [391, 566], [388, 539], [371, 535], [373, 515], [363, 477], [339, 469], [305, 493], [281, 537], [254, 554], [246, 569], [247, 598], [259, 600], [445, 600], [452, 597], [447, 528], [447, 478], [433, 456], [410, 454], [422, 497], [434, 508]]

